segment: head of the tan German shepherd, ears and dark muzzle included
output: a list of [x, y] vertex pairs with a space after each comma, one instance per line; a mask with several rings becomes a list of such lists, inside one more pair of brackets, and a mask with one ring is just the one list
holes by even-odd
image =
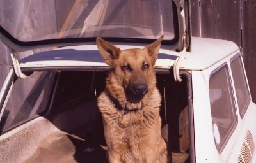
[[[97, 46], [106, 64], [113, 68], [107, 86], [122, 86], [127, 100], [143, 99], [145, 94], [156, 87], [154, 64], [157, 59], [163, 35], [145, 48], [120, 50], [102, 38], [97, 38]], [[118, 85], [118, 86], [116, 86]], [[115, 88], [113, 88], [115, 90]]]

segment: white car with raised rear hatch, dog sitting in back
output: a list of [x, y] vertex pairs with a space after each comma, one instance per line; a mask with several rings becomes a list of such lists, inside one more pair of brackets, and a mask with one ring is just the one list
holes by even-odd
[[97, 97], [109, 67], [95, 39], [143, 48], [161, 34], [155, 71], [170, 162], [255, 162], [256, 104], [240, 49], [191, 38], [189, 1], [6, 4], [20, 12], [0, 24], [13, 62], [0, 92], [0, 162], [107, 162]]

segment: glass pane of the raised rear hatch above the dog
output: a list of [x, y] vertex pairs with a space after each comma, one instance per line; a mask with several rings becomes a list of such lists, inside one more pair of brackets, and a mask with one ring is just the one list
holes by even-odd
[[[0, 1], [0, 25], [20, 41], [61, 38], [175, 38], [169, 0]], [[177, 16], [177, 15], [176, 15]]]

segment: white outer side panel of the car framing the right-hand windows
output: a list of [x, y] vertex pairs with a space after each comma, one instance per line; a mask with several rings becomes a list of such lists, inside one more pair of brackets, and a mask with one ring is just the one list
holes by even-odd
[[[246, 139], [246, 134], [248, 132], [252, 133], [254, 142], [256, 140], [256, 130], [255, 125], [253, 125], [256, 123], [255, 118], [253, 118], [256, 114], [255, 104], [251, 100], [246, 115], [241, 118], [238, 111], [237, 99], [235, 98], [236, 91], [234, 91], [234, 82], [232, 79], [233, 94], [236, 103], [237, 125], [231, 136], [228, 138], [228, 142], [223, 147], [223, 150], [219, 152], [216, 149], [214, 142], [214, 129], [212, 126], [209, 100], [209, 78], [211, 73], [223, 64], [227, 64], [230, 68], [230, 60], [237, 55], [239, 55], [239, 51], [232, 53], [232, 55], [227, 56], [203, 71], [192, 71], [195, 142], [200, 142], [195, 143], [196, 162], [237, 162], [239, 155], [243, 153], [241, 146]], [[230, 74], [230, 76], [232, 75]], [[253, 160], [255, 158], [255, 150], [252, 153], [252, 157]]]

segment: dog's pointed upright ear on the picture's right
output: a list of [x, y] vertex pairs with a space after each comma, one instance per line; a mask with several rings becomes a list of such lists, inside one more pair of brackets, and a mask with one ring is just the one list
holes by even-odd
[[154, 65], [157, 59], [157, 55], [159, 52], [159, 48], [161, 46], [161, 41], [163, 41], [164, 35], [162, 35], [159, 39], [146, 46], [145, 48], [148, 50], [148, 55], [152, 57], [152, 64]]

